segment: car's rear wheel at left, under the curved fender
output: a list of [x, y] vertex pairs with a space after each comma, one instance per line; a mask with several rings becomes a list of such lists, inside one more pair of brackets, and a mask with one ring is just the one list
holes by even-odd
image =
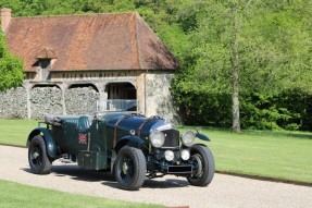
[[51, 161], [47, 155], [46, 143], [40, 135], [34, 136], [28, 147], [28, 162], [35, 174], [48, 174]]

